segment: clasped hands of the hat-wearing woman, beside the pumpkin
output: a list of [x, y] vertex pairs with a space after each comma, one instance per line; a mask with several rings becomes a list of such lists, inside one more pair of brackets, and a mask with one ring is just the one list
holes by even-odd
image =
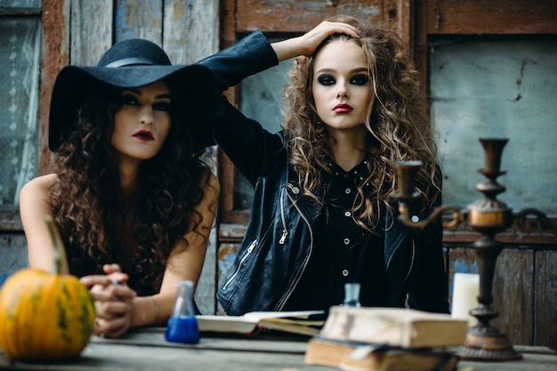
[[116, 338], [132, 325], [132, 302], [136, 294], [126, 285], [128, 276], [118, 264], [106, 264], [102, 269], [105, 275], [85, 276], [80, 281], [90, 288], [93, 296], [96, 311], [94, 334]]

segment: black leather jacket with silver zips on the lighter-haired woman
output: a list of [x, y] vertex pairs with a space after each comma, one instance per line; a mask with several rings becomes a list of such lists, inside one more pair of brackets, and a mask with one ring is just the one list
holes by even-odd
[[[225, 90], [278, 60], [265, 36], [255, 31], [199, 63], [214, 71]], [[280, 311], [316, 248], [319, 205], [302, 195], [282, 133], [267, 132], [225, 99], [216, 121], [215, 141], [255, 188], [246, 235], [217, 299], [229, 315]], [[386, 225], [391, 224], [384, 246], [389, 305], [408, 302], [411, 308], [448, 312], [442, 228], [415, 232], [387, 214]]]

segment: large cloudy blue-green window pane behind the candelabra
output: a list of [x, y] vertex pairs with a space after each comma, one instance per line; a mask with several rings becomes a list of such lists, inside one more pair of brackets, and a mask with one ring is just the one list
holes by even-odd
[[432, 124], [440, 133], [444, 201], [482, 198], [484, 152], [478, 138], [508, 138], [497, 179], [513, 210], [557, 214], [557, 42], [444, 42], [432, 47]]

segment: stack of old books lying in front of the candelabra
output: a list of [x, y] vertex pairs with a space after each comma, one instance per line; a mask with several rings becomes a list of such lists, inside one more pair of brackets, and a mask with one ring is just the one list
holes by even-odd
[[466, 319], [448, 314], [335, 306], [304, 362], [345, 371], [451, 371], [467, 329]]

